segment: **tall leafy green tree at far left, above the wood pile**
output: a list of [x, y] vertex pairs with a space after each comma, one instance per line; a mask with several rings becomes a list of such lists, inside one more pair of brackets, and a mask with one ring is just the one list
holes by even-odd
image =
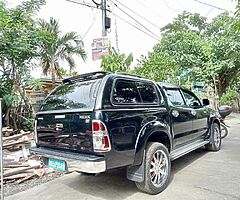
[[18, 128], [22, 119], [26, 119], [23, 113], [31, 115], [24, 82], [34, 67], [32, 60], [38, 55], [40, 32], [34, 15], [44, 3], [44, 0], [29, 0], [7, 8], [0, 2], [0, 97], [6, 126]]

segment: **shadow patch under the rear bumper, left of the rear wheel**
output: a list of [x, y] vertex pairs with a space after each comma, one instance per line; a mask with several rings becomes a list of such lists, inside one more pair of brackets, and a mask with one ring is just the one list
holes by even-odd
[[124, 168], [110, 170], [96, 176], [77, 174], [75, 181], [65, 184], [81, 194], [109, 200], [120, 200], [138, 192], [135, 183], [127, 180]]

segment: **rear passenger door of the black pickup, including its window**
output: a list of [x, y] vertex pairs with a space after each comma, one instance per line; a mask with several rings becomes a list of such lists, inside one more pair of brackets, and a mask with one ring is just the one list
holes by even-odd
[[182, 93], [179, 88], [165, 88], [169, 115], [172, 121], [172, 132], [174, 135], [174, 148], [189, 142], [189, 135], [193, 133], [192, 109], [186, 107]]

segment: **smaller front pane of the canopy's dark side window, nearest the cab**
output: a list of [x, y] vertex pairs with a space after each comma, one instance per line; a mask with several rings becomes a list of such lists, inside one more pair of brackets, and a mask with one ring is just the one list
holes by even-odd
[[158, 103], [155, 87], [150, 83], [137, 83], [143, 103]]

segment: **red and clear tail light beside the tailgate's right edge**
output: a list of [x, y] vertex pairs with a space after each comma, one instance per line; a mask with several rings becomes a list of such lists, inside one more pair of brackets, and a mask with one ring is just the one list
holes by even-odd
[[110, 139], [106, 125], [100, 120], [92, 121], [93, 149], [95, 152], [107, 152], [111, 150]]

